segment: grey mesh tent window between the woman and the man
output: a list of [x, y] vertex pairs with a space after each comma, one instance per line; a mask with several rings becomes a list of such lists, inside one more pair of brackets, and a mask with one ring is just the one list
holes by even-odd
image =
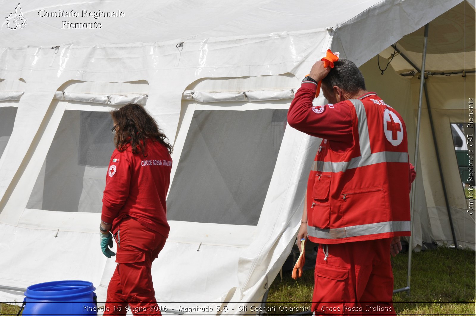
[[168, 219], [257, 225], [287, 113], [195, 111], [167, 200]]

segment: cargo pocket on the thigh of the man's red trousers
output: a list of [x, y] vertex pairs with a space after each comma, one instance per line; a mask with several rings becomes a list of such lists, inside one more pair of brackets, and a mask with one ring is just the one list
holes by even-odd
[[[314, 271], [314, 295], [316, 313], [339, 314], [343, 312], [344, 303], [348, 298], [347, 277], [349, 270], [341, 267], [316, 264]], [[317, 290], [316, 290], [317, 289]]]

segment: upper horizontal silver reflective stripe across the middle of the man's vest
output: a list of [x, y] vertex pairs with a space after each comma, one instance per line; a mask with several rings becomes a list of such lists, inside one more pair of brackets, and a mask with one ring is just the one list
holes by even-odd
[[365, 157], [356, 157], [350, 161], [314, 161], [313, 171], [321, 172], [345, 172], [363, 166], [374, 165], [382, 162], [408, 162], [408, 153], [399, 151], [380, 151]]

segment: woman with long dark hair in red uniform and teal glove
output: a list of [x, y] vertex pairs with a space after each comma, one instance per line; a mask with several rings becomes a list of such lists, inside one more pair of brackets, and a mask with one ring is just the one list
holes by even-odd
[[138, 104], [111, 111], [116, 149], [109, 161], [99, 226], [101, 249], [117, 267], [109, 282], [104, 315], [160, 315], [150, 269], [169, 236], [165, 198], [172, 145]]

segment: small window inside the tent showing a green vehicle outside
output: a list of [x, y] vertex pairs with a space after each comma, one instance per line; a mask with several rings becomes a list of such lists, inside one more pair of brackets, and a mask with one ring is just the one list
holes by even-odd
[[[474, 174], [474, 127], [468, 128], [465, 123], [451, 123], [451, 135], [455, 146], [456, 161], [458, 162], [459, 176], [463, 184], [465, 197], [475, 198]], [[469, 137], [471, 137], [471, 139]], [[470, 151], [471, 150], [471, 151]]]

